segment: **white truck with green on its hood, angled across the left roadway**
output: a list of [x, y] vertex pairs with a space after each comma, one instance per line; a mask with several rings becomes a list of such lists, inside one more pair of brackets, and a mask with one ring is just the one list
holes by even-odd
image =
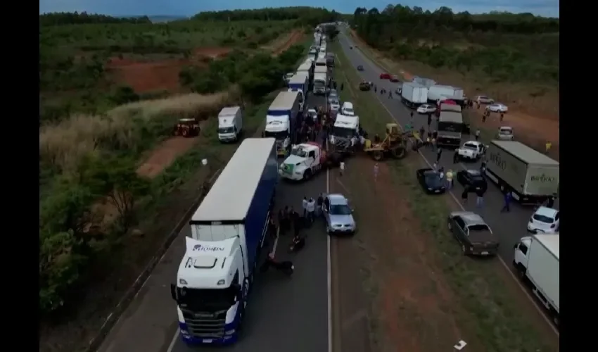
[[309, 180], [322, 170], [326, 163], [326, 151], [315, 142], [296, 144], [279, 168], [279, 175], [287, 180]]

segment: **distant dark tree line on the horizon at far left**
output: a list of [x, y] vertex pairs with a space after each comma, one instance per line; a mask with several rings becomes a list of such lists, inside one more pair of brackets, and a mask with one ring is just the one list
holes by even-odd
[[151, 20], [148, 16], [140, 16], [140, 17], [129, 17], [129, 18], [119, 18], [119, 17], [112, 17], [108, 15], [98, 15], [95, 13], [87, 13], [82, 12], [78, 13], [75, 12], [54, 12], [54, 13], [44, 13], [39, 15], [39, 25], [40, 26], [50, 26], [50, 25], [91, 25], [91, 24], [118, 24], [118, 23], [131, 23], [131, 24], [141, 24], [141, 23], [151, 23]]

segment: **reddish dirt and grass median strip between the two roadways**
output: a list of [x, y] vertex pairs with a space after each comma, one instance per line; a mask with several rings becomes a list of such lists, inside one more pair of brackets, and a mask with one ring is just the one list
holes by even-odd
[[374, 161], [361, 157], [347, 163], [347, 175], [331, 176], [331, 183], [336, 182], [356, 208], [360, 230], [355, 241], [368, 259], [362, 272], [367, 272], [365, 290], [372, 302], [373, 351], [450, 351], [459, 339], [465, 339], [471, 351], [485, 351], [454, 319], [467, 313], [426, 251], [430, 237], [402, 196], [407, 190], [393, 184], [386, 164], [378, 165], [376, 182]]

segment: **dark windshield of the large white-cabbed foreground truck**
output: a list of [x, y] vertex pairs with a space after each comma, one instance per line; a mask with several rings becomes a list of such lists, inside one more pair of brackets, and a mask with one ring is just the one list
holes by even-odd
[[222, 310], [236, 301], [236, 289], [190, 289], [178, 288], [179, 305], [185, 304], [191, 310]]

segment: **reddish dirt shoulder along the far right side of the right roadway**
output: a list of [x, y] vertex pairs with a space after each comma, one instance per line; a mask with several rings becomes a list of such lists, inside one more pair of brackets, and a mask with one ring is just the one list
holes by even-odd
[[[358, 49], [369, 56], [372, 61], [388, 70], [389, 73], [402, 75], [405, 80], [411, 80], [414, 75], [432, 77], [442, 84], [463, 87], [469, 96], [488, 94], [498, 101], [506, 103], [509, 106], [509, 113], [505, 115], [503, 121], [500, 121], [497, 114], [492, 114], [486, 122], [482, 122], [483, 106], [479, 111], [476, 108], [466, 110], [466, 118], [471, 125], [484, 130], [488, 139], [495, 136], [498, 127], [510, 126], [514, 128], [516, 139], [538, 151], [544, 151], [546, 142], [551, 142], [550, 156], [559, 160], [559, 96], [556, 92], [545, 92], [545, 95], [537, 96], [534, 87], [528, 87], [528, 90], [524, 89], [525, 87], [507, 84], [481, 87], [475, 77], [435, 70], [421, 63], [394, 61], [388, 55], [368, 46], [354, 31], [351, 31], [350, 35], [358, 44]], [[505, 92], [509, 92], [509, 94]]]

